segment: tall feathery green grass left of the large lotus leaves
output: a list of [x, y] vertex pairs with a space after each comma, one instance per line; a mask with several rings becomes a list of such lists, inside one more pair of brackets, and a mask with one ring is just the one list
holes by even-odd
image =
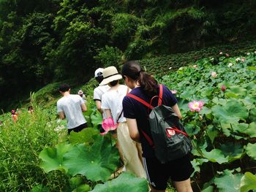
[[30, 191], [39, 184], [47, 185], [50, 191], [62, 191], [67, 183], [61, 172], [45, 174], [39, 167], [39, 152], [66, 139], [66, 132], [60, 137], [60, 132], [54, 131], [59, 126], [56, 109], [32, 104], [34, 112], [21, 109], [17, 123], [10, 114], [1, 117], [0, 191]]

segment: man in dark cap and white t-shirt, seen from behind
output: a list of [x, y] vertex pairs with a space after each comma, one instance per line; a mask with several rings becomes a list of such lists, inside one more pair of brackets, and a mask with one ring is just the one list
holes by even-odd
[[67, 118], [68, 134], [71, 131], [79, 132], [87, 127], [83, 112], [87, 110], [83, 99], [78, 95], [70, 94], [70, 87], [67, 84], [59, 86], [59, 93], [63, 96], [57, 101], [59, 118]]

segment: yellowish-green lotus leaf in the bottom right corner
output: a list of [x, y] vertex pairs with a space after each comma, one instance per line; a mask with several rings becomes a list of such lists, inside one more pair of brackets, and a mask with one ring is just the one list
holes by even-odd
[[256, 189], [256, 176], [251, 172], [246, 172], [241, 178], [241, 192], [247, 192], [249, 190]]

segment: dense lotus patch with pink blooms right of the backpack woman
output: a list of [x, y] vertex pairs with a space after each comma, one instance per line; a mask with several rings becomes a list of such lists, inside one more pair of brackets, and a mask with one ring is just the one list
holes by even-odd
[[[255, 77], [256, 51], [237, 58], [203, 58], [161, 78], [175, 90], [193, 139], [199, 191], [255, 189]], [[193, 110], [192, 101], [203, 102], [203, 107], [197, 104], [199, 109]]]

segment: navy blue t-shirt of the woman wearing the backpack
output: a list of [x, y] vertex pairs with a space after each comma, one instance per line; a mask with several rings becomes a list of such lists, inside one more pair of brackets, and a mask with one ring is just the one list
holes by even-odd
[[[162, 86], [162, 104], [165, 104], [166, 106], [173, 107], [177, 103], [177, 99], [173, 95], [173, 93], [170, 92], [170, 90], [165, 87], [165, 85]], [[148, 104], [150, 103], [151, 97], [146, 96], [145, 93], [143, 93], [142, 88], [134, 88], [130, 92], [135, 96], [140, 97], [140, 99], [143, 99]], [[159, 88], [157, 91], [159, 95]], [[157, 106], [158, 99], [153, 99], [152, 106]], [[124, 117], [130, 118], [130, 119], [136, 119], [138, 131], [140, 132], [140, 142], [143, 150], [143, 157], [151, 158], [155, 157], [154, 150], [150, 145], [148, 145], [148, 141], [143, 136], [140, 129], [142, 129], [146, 134], [148, 134], [149, 137], [151, 137], [151, 132], [149, 129], [149, 122], [148, 122], [148, 115], [151, 112], [148, 107], [146, 107], [144, 104], [140, 103], [140, 101], [137, 101], [135, 99], [130, 98], [129, 96], [125, 96], [123, 100], [123, 109], [124, 109]], [[151, 137], [152, 139], [152, 137]]]

